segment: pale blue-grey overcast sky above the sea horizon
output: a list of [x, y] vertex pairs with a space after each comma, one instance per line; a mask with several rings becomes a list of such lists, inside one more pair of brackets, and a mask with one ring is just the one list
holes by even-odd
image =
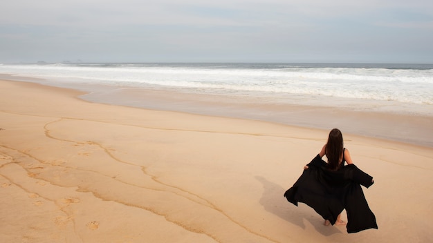
[[0, 63], [433, 64], [431, 0], [1, 0]]

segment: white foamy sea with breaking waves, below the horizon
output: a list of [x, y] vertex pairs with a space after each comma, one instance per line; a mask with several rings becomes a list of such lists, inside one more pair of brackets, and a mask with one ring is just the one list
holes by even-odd
[[[193, 93], [351, 99], [358, 100], [361, 106], [362, 101], [395, 101], [425, 105], [428, 111], [433, 110], [432, 68], [366, 68], [347, 64], [46, 64], [2, 65], [0, 72], [77, 84], [151, 86]], [[322, 103], [321, 99], [311, 100]]]

